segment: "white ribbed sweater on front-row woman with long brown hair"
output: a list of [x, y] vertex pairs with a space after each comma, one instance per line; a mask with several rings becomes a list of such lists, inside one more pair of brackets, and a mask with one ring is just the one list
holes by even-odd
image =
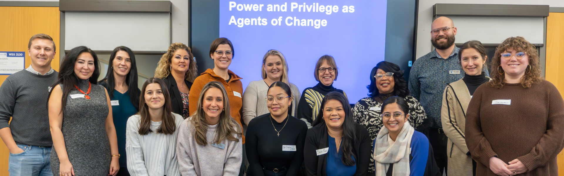
[[176, 130], [173, 134], [156, 133], [162, 121], [151, 121], [153, 132], [140, 135], [139, 121], [141, 117], [134, 115], [127, 120], [126, 152], [127, 171], [133, 176], [180, 176], [176, 154], [178, 129], [182, 116], [173, 113]]

